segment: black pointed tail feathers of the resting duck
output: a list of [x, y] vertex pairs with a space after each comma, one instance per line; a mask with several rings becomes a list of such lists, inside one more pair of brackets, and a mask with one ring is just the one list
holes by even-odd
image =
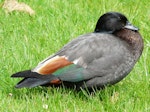
[[11, 77], [14, 78], [24, 78], [22, 79], [15, 87], [36, 87], [40, 85], [50, 84], [51, 81], [59, 80], [56, 76], [50, 75], [41, 75], [37, 72], [32, 72], [31, 70], [21, 71], [13, 74]]

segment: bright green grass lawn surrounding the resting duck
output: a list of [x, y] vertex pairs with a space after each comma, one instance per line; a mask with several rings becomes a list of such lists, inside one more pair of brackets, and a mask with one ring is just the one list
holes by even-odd
[[[0, 112], [149, 112], [149, 0], [19, 0], [34, 16], [0, 8]], [[0, 0], [0, 4], [3, 1]], [[15, 89], [12, 73], [34, 68], [80, 34], [92, 32], [99, 16], [119, 11], [140, 28], [144, 52], [120, 83], [88, 95], [65, 88]]]

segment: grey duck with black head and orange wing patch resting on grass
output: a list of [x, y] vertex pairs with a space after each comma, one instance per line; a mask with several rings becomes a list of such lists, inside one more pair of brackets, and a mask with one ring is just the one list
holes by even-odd
[[11, 75], [16, 88], [104, 88], [124, 79], [143, 51], [139, 29], [120, 12], [106, 12], [92, 33], [78, 36], [35, 68]]

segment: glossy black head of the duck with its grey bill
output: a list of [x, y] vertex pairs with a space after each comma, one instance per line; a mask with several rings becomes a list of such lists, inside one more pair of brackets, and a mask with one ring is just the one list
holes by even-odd
[[123, 14], [118, 12], [108, 12], [99, 18], [94, 31], [113, 33], [122, 28], [134, 31], [138, 30], [138, 28], [134, 27]]

